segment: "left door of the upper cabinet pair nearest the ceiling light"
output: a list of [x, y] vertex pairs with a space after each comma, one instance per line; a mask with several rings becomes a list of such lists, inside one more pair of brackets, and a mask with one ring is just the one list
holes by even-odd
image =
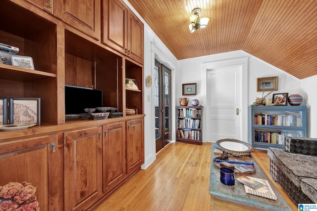
[[127, 7], [121, 0], [104, 0], [103, 6], [103, 42], [125, 53], [127, 51]]

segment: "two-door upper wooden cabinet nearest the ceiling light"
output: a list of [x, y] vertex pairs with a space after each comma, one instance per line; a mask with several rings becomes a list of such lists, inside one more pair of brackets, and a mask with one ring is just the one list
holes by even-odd
[[121, 0], [103, 0], [103, 42], [143, 64], [143, 23]]

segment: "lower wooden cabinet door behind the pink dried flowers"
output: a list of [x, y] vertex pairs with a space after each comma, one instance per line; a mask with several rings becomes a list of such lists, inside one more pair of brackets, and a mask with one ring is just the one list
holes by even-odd
[[58, 160], [50, 144], [57, 144], [57, 135], [0, 143], [0, 186], [23, 181], [36, 187], [40, 210], [57, 208]]

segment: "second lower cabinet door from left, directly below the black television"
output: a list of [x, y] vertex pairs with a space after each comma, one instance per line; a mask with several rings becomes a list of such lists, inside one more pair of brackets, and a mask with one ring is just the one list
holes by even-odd
[[102, 194], [102, 133], [93, 127], [64, 134], [65, 210], [84, 210]]

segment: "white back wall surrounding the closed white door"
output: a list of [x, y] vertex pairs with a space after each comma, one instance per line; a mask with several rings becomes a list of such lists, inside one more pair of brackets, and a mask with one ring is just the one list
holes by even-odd
[[[177, 64], [177, 71], [176, 71], [176, 81], [177, 81], [176, 95], [175, 95], [176, 104], [178, 104], [178, 99], [180, 97], [183, 97], [182, 84], [197, 83], [197, 95], [190, 96], [189, 97], [190, 101], [192, 99], [198, 99], [201, 105], [203, 106], [206, 105], [206, 102], [204, 100], [205, 96], [202, 95], [203, 91], [201, 89], [202, 80], [205, 80], [202, 78], [201, 65], [203, 63], [208, 63], [208, 62], [228, 60], [228, 59], [241, 58], [241, 57], [249, 57], [248, 99], [243, 99], [248, 101], [248, 105], [251, 105], [253, 102], [255, 102], [255, 99], [257, 97], [262, 97], [262, 92], [257, 92], [257, 78], [278, 76], [278, 79], [279, 79], [278, 91], [274, 91], [273, 93], [287, 92], [289, 93], [289, 95], [301, 94], [305, 99], [307, 99], [306, 93], [313, 92], [313, 90], [316, 90], [316, 89], [309, 89], [309, 86], [315, 83], [315, 87], [316, 87], [317, 78], [314, 78], [314, 80], [307, 80], [307, 82], [305, 83], [306, 85], [303, 86], [302, 88], [301, 86], [302, 82], [298, 78], [264, 62], [263, 60], [243, 50], [238, 50], [238, 51], [231, 51], [226, 53], [219, 53], [219, 54], [213, 54], [208, 56], [179, 60]], [[267, 99], [272, 98], [273, 93], [271, 93], [267, 97]], [[304, 100], [301, 105], [306, 105], [306, 103], [307, 103], [307, 100]], [[311, 111], [311, 113], [315, 115], [316, 115], [316, 112], [314, 113], [313, 111]], [[312, 126], [313, 125], [316, 126], [316, 124], [312, 124]], [[243, 136], [247, 137], [247, 133], [248, 133], [247, 128], [243, 132], [245, 133]], [[206, 141], [206, 139], [204, 141]]]

